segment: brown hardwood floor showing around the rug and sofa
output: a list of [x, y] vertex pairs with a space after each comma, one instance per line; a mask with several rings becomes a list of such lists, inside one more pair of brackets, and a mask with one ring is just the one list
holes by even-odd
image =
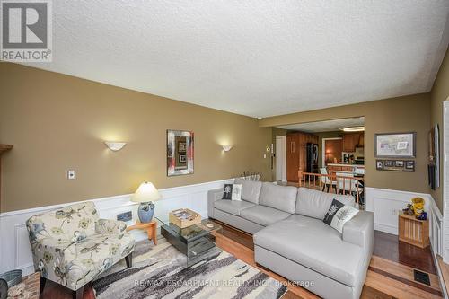
[[[270, 277], [286, 283], [288, 292], [283, 299], [318, 298], [318, 296], [302, 287], [288, 284], [286, 278], [256, 265], [251, 234], [244, 233], [226, 224], [222, 224], [222, 226], [223, 231], [215, 234], [216, 245], [251, 266], [260, 268]], [[414, 281], [413, 270], [415, 268], [428, 273], [430, 286]], [[395, 235], [375, 232], [374, 256], [368, 269], [362, 298], [442, 298], [442, 296], [429, 248], [422, 250], [407, 243], [399, 242]], [[68, 289], [48, 281], [41, 298], [69, 299], [72, 298], [72, 295]], [[95, 295], [92, 287], [85, 286], [84, 299], [93, 298], [95, 298]]]

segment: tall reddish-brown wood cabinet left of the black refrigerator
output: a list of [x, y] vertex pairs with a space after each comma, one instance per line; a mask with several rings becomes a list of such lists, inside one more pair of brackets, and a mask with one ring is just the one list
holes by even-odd
[[305, 171], [308, 143], [318, 144], [318, 136], [302, 132], [286, 135], [286, 180], [297, 182], [298, 171]]

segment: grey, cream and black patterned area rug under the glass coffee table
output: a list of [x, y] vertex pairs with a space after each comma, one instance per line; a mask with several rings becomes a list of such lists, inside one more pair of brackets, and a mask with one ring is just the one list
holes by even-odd
[[274, 299], [286, 294], [286, 286], [225, 251], [185, 265], [185, 255], [163, 238], [157, 246], [137, 242], [132, 268], [121, 261], [92, 285], [98, 299]]

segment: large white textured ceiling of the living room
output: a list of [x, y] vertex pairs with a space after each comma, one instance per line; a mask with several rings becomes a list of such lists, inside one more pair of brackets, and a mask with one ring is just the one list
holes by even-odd
[[267, 117], [428, 92], [448, 0], [53, 1], [53, 62], [29, 64]]

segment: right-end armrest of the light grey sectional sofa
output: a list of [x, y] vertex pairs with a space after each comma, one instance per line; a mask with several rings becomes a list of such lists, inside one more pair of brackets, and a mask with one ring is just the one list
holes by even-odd
[[362, 247], [369, 265], [374, 249], [374, 213], [359, 211], [349, 220], [343, 226], [343, 241]]

